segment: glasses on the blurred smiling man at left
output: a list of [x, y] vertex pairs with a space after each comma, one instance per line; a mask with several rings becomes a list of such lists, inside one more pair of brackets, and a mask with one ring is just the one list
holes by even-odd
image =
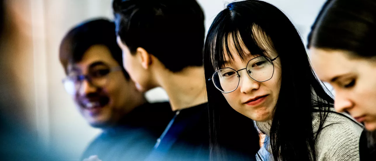
[[111, 72], [121, 71], [120, 66], [109, 68], [101, 65], [99, 68], [91, 68], [87, 75], [69, 75], [63, 79], [65, 90], [70, 95], [75, 95], [80, 90], [83, 80], [87, 80], [92, 86], [103, 87], [108, 83], [108, 75]]

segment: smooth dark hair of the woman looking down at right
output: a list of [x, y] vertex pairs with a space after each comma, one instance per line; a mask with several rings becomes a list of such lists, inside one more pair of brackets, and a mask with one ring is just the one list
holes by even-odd
[[374, 0], [328, 0], [308, 37], [308, 48], [347, 50], [356, 56], [374, 57], [376, 44]]

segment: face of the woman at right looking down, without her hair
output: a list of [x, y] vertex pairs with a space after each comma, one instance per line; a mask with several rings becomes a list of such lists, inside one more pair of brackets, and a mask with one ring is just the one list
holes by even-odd
[[318, 77], [334, 88], [335, 109], [349, 112], [367, 130], [376, 130], [376, 59], [343, 50], [312, 48], [310, 52]]

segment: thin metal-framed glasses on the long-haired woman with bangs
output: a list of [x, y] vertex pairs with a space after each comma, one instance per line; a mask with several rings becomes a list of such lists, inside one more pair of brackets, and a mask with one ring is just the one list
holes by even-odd
[[[279, 57], [279, 56], [277, 56]], [[244, 68], [247, 71], [249, 77], [258, 82], [264, 82], [270, 80], [273, 77], [274, 65], [273, 61], [277, 59], [269, 59], [267, 57], [259, 56], [255, 57], [247, 63], [247, 67]], [[213, 81], [214, 86], [222, 93], [230, 93], [236, 90], [239, 86], [241, 71], [235, 71], [232, 68], [223, 68], [214, 72], [209, 79]]]

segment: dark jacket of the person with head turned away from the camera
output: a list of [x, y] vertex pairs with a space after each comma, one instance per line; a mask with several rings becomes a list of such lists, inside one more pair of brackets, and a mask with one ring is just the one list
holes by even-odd
[[[255, 160], [255, 154], [259, 148], [253, 150], [254, 152], [247, 148], [253, 147], [249, 141], [253, 138], [258, 146], [258, 135], [252, 120], [248, 118], [247, 120], [251, 125], [249, 128], [241, 129], [243, 134], [240, 134], [247, 135], [247, 138], [241, 138], [241, 141], [237, 141], [238, 138], [228, 138], [228, 140], [235, 141], [233, 144], [237, 147], [246, 147], [246, 149], [241, 149], [246, 152], [228, 149], [228, 160]], [[254, 133], [250, 134], [251, 131]], [[209, 161], [210, 134], [207, 103], [177, 111], [160, 139], [146, 161]]]

